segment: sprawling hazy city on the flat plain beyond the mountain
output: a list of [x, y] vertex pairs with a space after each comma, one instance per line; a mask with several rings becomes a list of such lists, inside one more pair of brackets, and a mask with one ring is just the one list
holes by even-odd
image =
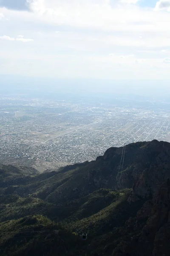
[[109, 147], [153, 139], [170, 141], [168, 108], [89, 102], [3, 95], [1, 163], [44, 171], [95, 160]]

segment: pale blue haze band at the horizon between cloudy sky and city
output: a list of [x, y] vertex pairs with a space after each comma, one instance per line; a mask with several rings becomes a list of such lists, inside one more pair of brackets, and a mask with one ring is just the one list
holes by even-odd
[[151, 98], [170, 96], [169, 80], [114, 80], [114, 79], [51, 79], [25, 76], [0, 76], [0, 93], [7, 91], [36, 91], [57, 93], [118, 93]]

